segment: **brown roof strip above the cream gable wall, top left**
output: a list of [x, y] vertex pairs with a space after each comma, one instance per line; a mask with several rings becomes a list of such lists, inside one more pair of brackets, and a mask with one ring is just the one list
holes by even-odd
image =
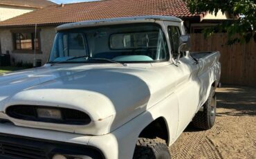
[[43, 8], [55, 4], [56, 3], [53, 3], [48, 0], [0, 0], [0, 5], [22, 6], [28, 8]]

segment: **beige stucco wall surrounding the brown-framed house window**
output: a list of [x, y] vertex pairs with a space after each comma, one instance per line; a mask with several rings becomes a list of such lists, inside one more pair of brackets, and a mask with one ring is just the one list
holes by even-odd
[[[17, 51], [14, 50], [11, 30], [15, 29], [20, 28], [0, 28], [1, 53], [5, 54], [8, 51], [11, 56], [12, 64], [15, 64], [17, 62], [33, 64], [33, 50], [28, 52], [25, 51], [25, 53], [17, 53]], [[55, 27], [44, 27], [39, 28], [39, 30], [41, 52], [35, 54], [35, 59], [41, 59], [42, 64], [45, 64], [48, 60], [48, 56], [50, 55], [51, 48], [53, 46], [53, 39], [55, 37]]]

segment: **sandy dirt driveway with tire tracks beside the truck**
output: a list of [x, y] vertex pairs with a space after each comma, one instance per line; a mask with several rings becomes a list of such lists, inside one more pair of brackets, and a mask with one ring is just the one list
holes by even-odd
[[172, 158], [256, 158], [256, 88], [223, 86], [217, 97], [214, 127], [189, 126], [170, 147]]

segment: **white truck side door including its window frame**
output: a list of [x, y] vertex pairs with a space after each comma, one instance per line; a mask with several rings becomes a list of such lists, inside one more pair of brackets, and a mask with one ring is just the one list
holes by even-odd
[[[179, 37], [184, 30], [181, 29], [181, 24], [167, 26], [167, 30], [170, 39], [172, 60], [175, 65], [178, 55]], [[179, 126], [177, 130], [177, 135], [179, 135], [188, 126], [199, 108], [200, 84], [197, 77], [199, 66], [187, 53], [182, 53], [181, 59], [176, 64], [176, 69], [181, 73], [180, 78], [176, 81], [175, 89], [179, 100]]]

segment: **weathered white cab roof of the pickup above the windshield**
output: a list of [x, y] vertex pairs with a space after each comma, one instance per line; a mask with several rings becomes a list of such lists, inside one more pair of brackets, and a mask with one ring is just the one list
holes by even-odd
[[138, 17], [120, 17], [120, 18], [111, 18], [111, 19], [99, 19], [99, 20], [91, 20], [91, 21], [80, 21], [71, 24], [63, 24], [57, 27], [57, 31], [60, 30], [68, 30], [73, 28], [84, 28], [90, 26], [107, 26], [107, 25], [115, 25], [115, 24], [131, 24], [131, 23], [147, 23], [154, 21], [174, 21], [181, 22], [182, 20], [178, 17], [172, 16], [138, 16]]

